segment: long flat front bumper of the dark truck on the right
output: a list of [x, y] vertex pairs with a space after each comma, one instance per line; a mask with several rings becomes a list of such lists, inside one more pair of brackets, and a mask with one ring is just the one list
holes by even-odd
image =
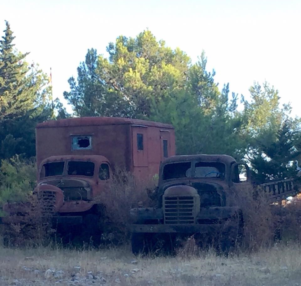
[[208, 233], [221, 229], [220, 224], [196, 224], [196, 225], [129, 225], [130, 232], [145, 233]]

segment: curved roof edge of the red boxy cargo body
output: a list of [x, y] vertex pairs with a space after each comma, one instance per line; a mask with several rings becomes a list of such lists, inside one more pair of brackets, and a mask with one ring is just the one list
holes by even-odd
[[37, 124], [36, 128], [50, 128], [50, 127], [69, 127], [69, 126], [87, 126], [87, 125], [141, 125], [153, 126], [166, 129], [174, 129], [171, 124], [165, 124], [154, 121], [147, 121], [141, 119], [119, 118], [119, 117], [76, 117], [60, 120], [50, 120]]

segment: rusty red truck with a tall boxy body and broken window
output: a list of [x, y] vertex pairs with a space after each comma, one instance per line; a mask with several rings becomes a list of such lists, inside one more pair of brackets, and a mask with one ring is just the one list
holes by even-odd
[[[115, 168], [143, 181], [174, 154], [169, 124], [113, 117], [43, 122], [36, 126], [37, 188], [55, 224], [95, 228], [99, 209], [94, 199], [108, 188]], [[13, 209], [7, 204], [5, 211]]]

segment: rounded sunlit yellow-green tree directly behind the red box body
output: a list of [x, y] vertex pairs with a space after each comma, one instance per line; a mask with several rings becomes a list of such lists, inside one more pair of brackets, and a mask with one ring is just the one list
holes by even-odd
[[64, 96], [79, 116], [148, 118], [152, 102], [184, 86], [190, 58], [148, 30], [136, 39], [119, 36], [107, 51], [109, 59], [88, 50], [77, 82], [69, 79], [71, 91]]

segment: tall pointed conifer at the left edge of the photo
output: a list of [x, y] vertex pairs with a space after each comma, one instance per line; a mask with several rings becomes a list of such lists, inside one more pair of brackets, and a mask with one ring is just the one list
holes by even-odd
[[6, 21], [0, 40], [0, 159], [15, 154], [35, 155], [35, 125], [51, 118], [48, 77], [14, 50], [13, 32]]

